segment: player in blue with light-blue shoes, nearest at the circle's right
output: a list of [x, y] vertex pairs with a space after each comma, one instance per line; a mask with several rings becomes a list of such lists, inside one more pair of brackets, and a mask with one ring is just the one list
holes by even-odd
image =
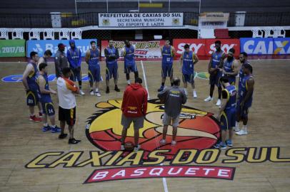
[[[215, 145], [216, 148], [226, 149], [227, 146], [233, 146], [233, 127], [236, 123], [236, 87], [230, 85], [229, 80], [225, 77], [220, 79], [222, 90], [221, 108], [217, 119], [221, 123], [221, 142]], [[229, 136], [229, 137], [228, 137]], [[228, 137], [228, 138], [227, 138]]]

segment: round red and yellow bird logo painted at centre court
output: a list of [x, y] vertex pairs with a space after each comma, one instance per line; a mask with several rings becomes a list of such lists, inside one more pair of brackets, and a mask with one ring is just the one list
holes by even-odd
[[[89, 141], [104, 151], [119, 151], [121, 146], [121, 99], [99, 102], [99, 109], [89, 117], [86, 125], [86, 136]], [[219, 124], [213, 114], [184, 106], [181, 109], [176, 146], [171, 146], [172, 127], [169, 126], [166, 144], [159, 144], [162, 139], [162, 117], [164, 105], [159, 100], [149, 100], [144, 127], [139, 130], [143, 159], [156, 149], [170, 149], [166, 159], [173, 159], [180, 149], [207, 149], [213, 146], [220, 137]], [[133, 124], [127, 132], [126, 142], [134, 142]]]

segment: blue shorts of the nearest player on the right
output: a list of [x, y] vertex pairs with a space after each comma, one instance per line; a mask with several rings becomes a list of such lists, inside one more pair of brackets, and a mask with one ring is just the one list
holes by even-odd
[[236, 108], [221, 113], [221, 129], [227, 130], [236, 126]]

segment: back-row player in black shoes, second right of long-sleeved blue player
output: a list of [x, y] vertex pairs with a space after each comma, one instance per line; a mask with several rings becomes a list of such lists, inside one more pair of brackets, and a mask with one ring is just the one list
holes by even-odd
[[117, 60], [119, 58], [119, 50], [114, 48], [114, 41], [109, 41], [109, 46], [104, 50], [106, 56], [106, 93], [110, 92], [109, 88], [109, 80], [114, 78], [115, 83], [115, 91], [120, 92], [118, 87], [118, 63]]

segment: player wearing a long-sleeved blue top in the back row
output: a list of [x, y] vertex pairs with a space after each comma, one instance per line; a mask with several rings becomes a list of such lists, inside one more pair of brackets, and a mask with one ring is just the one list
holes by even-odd
[[74, 40], [69, 40], [69, 48], [66, 51], [67, 60], [69, 61], [69, 67], [71, 68], [71, 80], [76, 82], [79, 81], [79, 92], [81, 95], [84, 95], [84, 92], [81, 90], [81, 50], [76, 48], [76, 43]]

